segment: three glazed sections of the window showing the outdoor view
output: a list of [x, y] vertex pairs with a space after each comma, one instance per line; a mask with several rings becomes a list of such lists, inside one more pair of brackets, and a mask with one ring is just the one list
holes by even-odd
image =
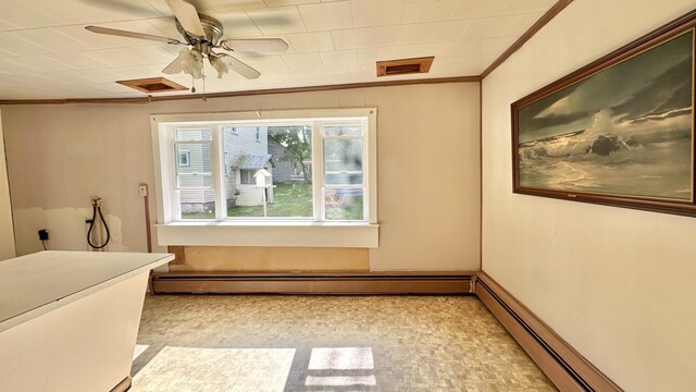
[[366, 119], [169, 123], [166, 133], [174, 220], [369, 220]]

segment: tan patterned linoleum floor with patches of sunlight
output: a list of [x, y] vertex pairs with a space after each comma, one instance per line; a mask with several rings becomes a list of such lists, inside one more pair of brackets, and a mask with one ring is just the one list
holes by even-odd
[[474, 296], [148, 296], [132, 392], [555, 391]]

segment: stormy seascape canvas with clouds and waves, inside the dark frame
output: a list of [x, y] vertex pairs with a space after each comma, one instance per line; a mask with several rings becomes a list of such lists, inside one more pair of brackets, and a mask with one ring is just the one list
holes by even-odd
[[519, 108], [519, 186], [693, 200], [694, 30]]

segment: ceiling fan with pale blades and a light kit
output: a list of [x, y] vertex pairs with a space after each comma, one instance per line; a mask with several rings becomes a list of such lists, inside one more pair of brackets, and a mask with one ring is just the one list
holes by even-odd
[[223, 39], [223, 27], [217, 20], [199, 14], [192, 4], [184, 0], [165, 1], [174, 12], [174, 16], [176, 17], [176, 29], [184, 37], [184, 41], [169, 37], [99, 26], [86, 26], [85, 28], [98, 34], [188, 46], [190, 48], [182, 48], [178, 57], [164, 68], [162, 72], [166, 74], [184, 72], [190, 74], [194, 78], [204, 77], [203, 59], [206, 58], [213, 69], [217, 71], [217, 77], [222, 77], [222, 75], [227, 73], [228, 70], [233, 70], [241, 76], [250, 79], [257, 78], [261, 75], [259, 71], [235, 59], [228, 53], [215, 52], [213, 51], [214, 49], [228, 51], [284, 52], [288, 48], [287, 42], [281, 38]]

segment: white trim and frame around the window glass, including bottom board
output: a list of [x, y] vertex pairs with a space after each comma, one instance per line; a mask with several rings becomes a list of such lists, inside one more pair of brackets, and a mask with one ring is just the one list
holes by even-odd
[[[380, 225], [377, 222], [376, 114], [376, 108], [355, 108], [151, 115], [154, 182], [156, 191], [159, 195], [157, 203], [158, 244], [161, 246], [377, 247]], [[364, 197], [368, 200], [365, 204], [368, 208], [366, 221], [221, 221], [222, 211], [217, 211], [216, 221], [181, 221], [178, 220], [181, 217], [173, 216], [173, 198], [167, 196], [170, 194], [169, 189], [172, 189], [173, 179], [171, 175], [162, 175], [162, 168], [167, 168], [166, 171], [169, 172], [169, 162], [173, 158], [173, 152], [167, 143], [167, 123], [196, 124], [225, 121], [249, 121], [251, 123], [259, 120], [315, 121], [318, 119], [350, 121], [351, 118], [368, 119], [369, 128], [365, 138], [368, 143], [363, 147], [363, 151], [366, 152], [363, 155], [364, 175], [366, 176], [364, 180], [366, 185]], [[313, 143], [316, 142], [318, 138], [314, 138]], [[315, 160], [319, 161], [318, 159]], [[318, 180], [318, 176], [323, 176], [321, 167], [318, 168], [315, 163], [312, 168], [314, 181]], [[216, 164], [216, 162], [213, 161], [212, 164]], [[222, 179], [214, 181], [222, 181]], [[316, 194], [318, 192], [315, 192], [315, 198], [322, 197], [322, 195]], [[217, 195], [217, 197], [223, 197], [223, 195]], [[320, 200], [314, 200], [314, 203]], [[314, 217], [314, 219], [316, 218]]]

